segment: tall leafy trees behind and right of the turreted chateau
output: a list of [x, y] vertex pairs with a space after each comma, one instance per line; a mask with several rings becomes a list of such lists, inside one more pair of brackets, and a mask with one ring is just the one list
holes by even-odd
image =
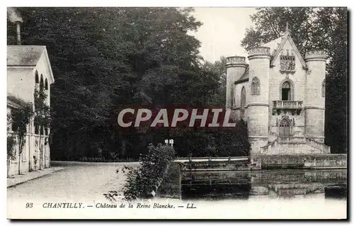
[[246, 49], [279, 38], [286, 23], [292, 39], [305, 55], [307, 50], [329, 53], [326, 75], [326, 144], [333, 153], [348, 148], [348, 9], [346, 8], [260, 8], [251, 16], [255, 27], [246, 30]]

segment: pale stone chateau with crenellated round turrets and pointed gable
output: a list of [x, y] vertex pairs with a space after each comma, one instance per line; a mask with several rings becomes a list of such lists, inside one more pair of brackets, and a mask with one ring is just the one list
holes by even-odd
[[303, 58], [287, 29], [253, 47], [246, 57], [227, 57], [226, 107], [246, 121], [251, 154], [329, 154], [324, 145], [326, 52]]

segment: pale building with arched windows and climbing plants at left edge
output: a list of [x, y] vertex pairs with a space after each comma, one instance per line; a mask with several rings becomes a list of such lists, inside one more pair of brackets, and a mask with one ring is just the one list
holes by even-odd
[[[46, 94], [45, 104], [50, 106], [50, 84], [54, 82], [50, 60], [45, 46], [13, 45], [7, 47], [7, 113], [8, 136], [15, 135], [12, 116], [18, 108], [29, 103], [35, 110], [35, 90], [42, 88]], [[18, 140], [9, 160], [8, 176], [50, 167], [50, 128], [30, 118], [25, 135], [25, 145], [20, 152]], [[20, 169], [18, 168], [20, 164]]]

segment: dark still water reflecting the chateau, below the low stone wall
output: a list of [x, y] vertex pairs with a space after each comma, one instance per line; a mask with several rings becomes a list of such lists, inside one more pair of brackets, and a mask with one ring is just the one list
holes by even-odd
[[343, 169], [183, 172], [182, 199], [346, 198], [346, 181]]

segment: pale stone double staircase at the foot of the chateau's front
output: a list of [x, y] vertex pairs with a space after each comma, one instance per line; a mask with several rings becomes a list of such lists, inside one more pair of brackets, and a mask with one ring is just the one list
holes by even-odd
[[331, 154], [331, 148], [308, 137], [276, 137], [261, 154]]

